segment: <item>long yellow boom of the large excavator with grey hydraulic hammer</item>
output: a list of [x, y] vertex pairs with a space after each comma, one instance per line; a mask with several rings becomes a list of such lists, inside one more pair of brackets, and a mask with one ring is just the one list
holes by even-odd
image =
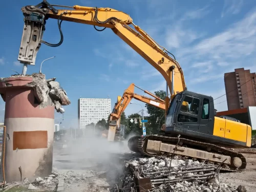
[[[130, 15], [112, 8], [59, 6], [69, 9], [55, 9], [57, 5], [51, 5], [46, 0], [35, 6], [25, 6], [22, 12], [25, 16], [24, 31], [20, 44], [18, 60], [24, 66], [35, 65], [36, 55], [41, 44], [58, 47], [62, 44], [63, 33], [61, 23], [63, 20], [81, 24], [111, 28], [126, 44], [131, 46], [138, 54], [147, 60], [165, 78], [170, 95], [186, 90], [183, 71], [179, 63], [168, 55], [168, 51], [160, 46], [145, 31], [133, 23]], [[42, 40], [42, 34], [46, 29], [48, 18], [57, 19], [61, 39], [57, 44], [51, 44]], [[134, 29], [130, 26], [133, 26]], [[95, 27], [95, 29], [97, 29]], [[98, 29], [97, 29], [98, 30]], [[75, 38], [75, 37], [74, 37]], [[166, 110], [169, 99], [166, 89]]]

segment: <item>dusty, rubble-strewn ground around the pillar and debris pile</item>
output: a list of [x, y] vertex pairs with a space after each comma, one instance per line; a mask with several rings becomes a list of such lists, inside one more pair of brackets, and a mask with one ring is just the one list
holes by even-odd
[[[247, 192], [256, 189], [256, 148], [235, 149], [246, 157], [247, 167], [241, 173], [220, 173], [219, 182], [226, 189], [197, 190], [195, 191], [236, 191], [239, 185], [245, 186]], [[127, 147], [127, 141], [122, 143], [108, 142], [106, 138], [78, 138], [62, 139], [54, 142], [53, 174], [46, 178], [37, 178], [35, 181], [9, 183], [10, 189], [5, 191], [56, 191], [57, 192], [85, 192], [111, 191], [116, 192], [115, 186], [122, 185], [122, 179], [127, 178], [127, 162], [134, 163], [147, 159], [135, 154]], [[179, 183], [177, 183], [179, 184]], [[193, 184], [194, 185], [194, 184]], [[191, 185], [190, 185], [191, 187]], [[198, 186], [199, 187], [199, 186]], [[33, 188], [35, 190], [33, 190]], [[55, 189], [55, 190], [54, 190]], [[185, 188], [186, 189], [186, 188]], [[119, 188], [119, 191], [126, 191]], [[180, 190], [174, 190], [180, 191]], [[189, 191], [189, 190], [181, 190]], [[193, 191], [193, 190], [191, 190]], [[238, 192], [245, 192], [238, 190]]]

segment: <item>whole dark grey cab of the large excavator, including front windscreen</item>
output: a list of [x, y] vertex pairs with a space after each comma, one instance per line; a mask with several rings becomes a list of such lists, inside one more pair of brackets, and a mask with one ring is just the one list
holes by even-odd
[[183, 137], [213, 135], [214, 115], [212, 97], [185, 90], [170, 102], [166, 115], [165, 133], [180, 134]]

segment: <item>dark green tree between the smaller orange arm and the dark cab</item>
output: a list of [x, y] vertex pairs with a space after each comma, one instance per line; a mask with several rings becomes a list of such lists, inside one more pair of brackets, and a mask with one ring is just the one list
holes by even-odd
[[[159, 90], [155, 92], [155, 95], [160, 97], [161, 99], [165, 99], [166, 97], [166, 92], [163, 90]], [[152, 106], [150, 104], [145, 104], [146, 108], [147, 108], [147, 113], [150, 114], [150, 116], [147, 117], [148, 119], [148, 126], [146, 128], [146, 130], [150, 131], [151, 134], [157, 134], [159, 133], [162, 124], [165, 123], [165, 111], [157, 108], [156, 106]], [[158, 118], [158, 122], [157, 121]], [[147, 131], [147, 134], [149, 134]]]

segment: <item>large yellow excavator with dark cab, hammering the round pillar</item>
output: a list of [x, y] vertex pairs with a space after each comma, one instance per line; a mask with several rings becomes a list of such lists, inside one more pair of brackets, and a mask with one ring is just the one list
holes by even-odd
[[[183, 71], [175, 56], [135, 25], [130, 15], [112, 8], [53, 5], [46, 0], [37, 5], [24, 6], [22, 12], [25, 24], [18, 60], [24, 64], [23, 75], [28, 65], [35, 65], [41, 44], [51, 47], [62, 44], [63, 20], [92, 25], [97, 31], [110, 28], [161, 73], [166, 80], [165, 135], [133, 137], [129, 141], [130, 150], [148, 156], [181, 155], [218, 164], [221, 169], [230, 171], [246, 168], [245, 157], [228, 148], [249, 148], [251, 127], [216, 117], [214, 99], [188, 91]], [[47, 19], [57, 19], [60, 32], [57, 44], [42, 39], [47, 29]], [[112, 132], [115, 133], [114, 128]], [[114, 140], [114, 134], [109, 134], [108, 139]]]

